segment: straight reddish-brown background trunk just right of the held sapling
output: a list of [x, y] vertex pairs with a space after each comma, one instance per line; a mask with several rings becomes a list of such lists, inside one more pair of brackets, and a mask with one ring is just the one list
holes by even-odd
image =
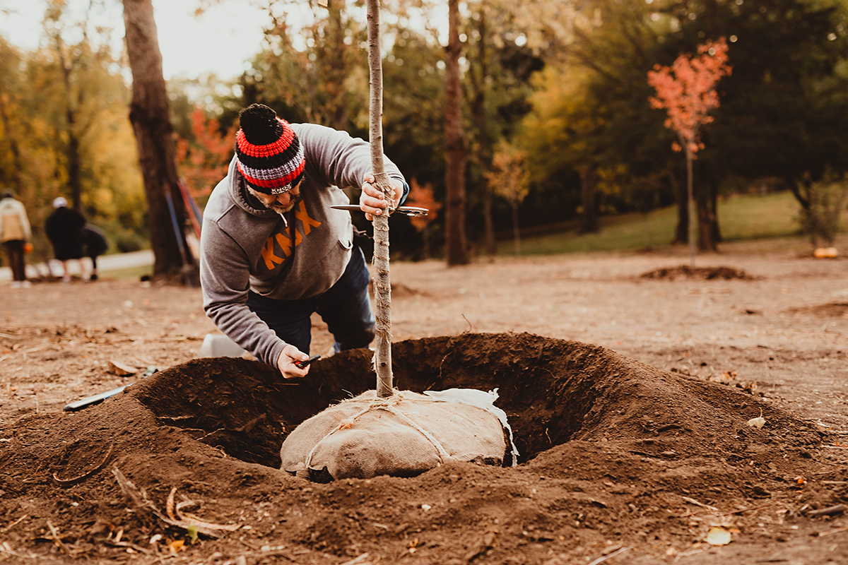
[[448, 1], [448, 47], [444, 51], [444, 137], [447, 146], [447, 208], [445, 210], [445, 255], [449, 265], [470, 263], [466, 241], [466, 140], [462, 131], [460, 92], [459, 0]]

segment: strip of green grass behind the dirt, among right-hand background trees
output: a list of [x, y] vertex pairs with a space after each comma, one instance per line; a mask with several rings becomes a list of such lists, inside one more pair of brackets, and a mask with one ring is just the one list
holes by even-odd
[[[774, 238], [805, 238], [798, 224], [799, 205], [791, 192], [766, 196], [734, 196], [718, 202], [718, 224], [725, 242]], [[600, 219], [600, 231], [578, 234], [577, 222], [522, 230], [522, 255], [554, 255], [576, 252], [622, 252], [662, 249], [670, 246], [677, 225], [677, 208], [651, 213], [628, 213]], [[843, 214], [840, 231], [848, 231]], [[512, 255], [509, 236], [500, 239], [498, 252]]]

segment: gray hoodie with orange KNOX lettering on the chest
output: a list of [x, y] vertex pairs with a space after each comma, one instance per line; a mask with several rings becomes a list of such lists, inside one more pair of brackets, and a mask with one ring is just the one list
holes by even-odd
[[[218, 328], [265, 363], [286, 343], [247, 307], [248, 290], [278, 300], [326, 292], [344, 273], [353, 248], [350, 213], [340, 188], [359, 188], [372, 172], [366, 141], [321, 125], [292, 124], [306, 160], [301, 200], [282, 216], [249, 197], [236, 159], [204, 209], [200, 284], [204, 311]], [[404, 180], [385, 159], [386, 172]]]

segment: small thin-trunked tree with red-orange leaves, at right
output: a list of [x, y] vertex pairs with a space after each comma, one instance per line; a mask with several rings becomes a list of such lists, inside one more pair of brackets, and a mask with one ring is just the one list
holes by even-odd
[[730, 75], [727, 64], [728, 44], [724, 38], [698, 47], [696, 57], [683, 54], [671, 67], [656, 65], [648, 71], [648, 84], [656, 89], [650, 97], [651, 108], [665, 108], [666, 127], [678, 132], [680, 143], [672, 147], [686, 155], [686, 194], [689, 208], [689, 261], [695, 268], [695, 199], [693, 197], [692, 161], [704, 145], [700, 142], [701, 126], [709, 124], [710, 110], [718, 108], [716, 83]]

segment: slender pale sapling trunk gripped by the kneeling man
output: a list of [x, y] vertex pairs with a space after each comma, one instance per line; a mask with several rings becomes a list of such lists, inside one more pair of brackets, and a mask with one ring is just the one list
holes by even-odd
[[[380, 53], [380, 2], [368, 0], [368, 68], [371, 72], [369, 130], [371, 135], [371, 168], [374, 186], [393, 202], [394, 187], [382, 160], [382, 58]], [[377, 373], [377, 396], [394, 394], [392, 375], [392, 282], [388, 273], [388, 213], [375, 216], [374, 224], [374, 299], [377, 318], [377, 349], [374, 370]]]

